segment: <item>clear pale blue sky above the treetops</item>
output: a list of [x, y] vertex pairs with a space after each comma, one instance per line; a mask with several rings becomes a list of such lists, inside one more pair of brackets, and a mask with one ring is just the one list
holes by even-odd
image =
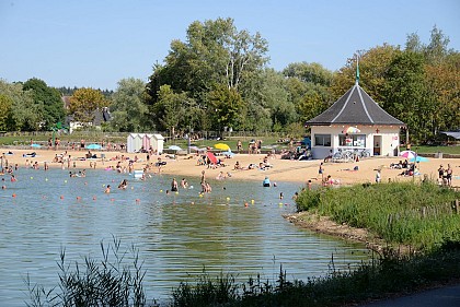
[[268, 42], [268, 67], [338, 70], [357, 50], [425, 44], [436, 25], [460, 50], [459, 0], [0, 0], [0, 79], [116, 90], [148, 81], [194, 21], [231, 17]]

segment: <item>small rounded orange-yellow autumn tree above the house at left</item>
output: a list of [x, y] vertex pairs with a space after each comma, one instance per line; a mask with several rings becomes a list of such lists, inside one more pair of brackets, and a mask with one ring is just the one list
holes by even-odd
[[108, 105], [108, 101], [100, 91], [83, 87], [77, 90], [70, 97], [69, 113], [73, 116], [74, 121], [85, 125], [93, 122], [95, 113], [102, 111], [102, 108]]

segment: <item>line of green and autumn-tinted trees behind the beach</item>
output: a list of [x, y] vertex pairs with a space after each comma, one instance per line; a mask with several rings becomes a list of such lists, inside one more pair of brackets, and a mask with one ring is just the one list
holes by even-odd
[[[405, 46], [382, 44], [359, 54], [360, 86], [425, 143], [460, 128], [460, 54], [436, 26], [427, 44], [409, 34]], [[114, 92], [53, 88], [42, 80], [0, 80], [0, 130], [47, 130], [66, 116], [94, 120], [105, 107], [107, 131], [215, 130], [306, 133], [304, 121], [348, 91], [355, 55], [337, 71], [317, 62], [268, 67], [268, 42], [239, 31], [232, 19], [193, 22], [184, 42], [171, 42], [148, 82], [127, 78]], [[61, 96], [70, 95], [67, 107]]]

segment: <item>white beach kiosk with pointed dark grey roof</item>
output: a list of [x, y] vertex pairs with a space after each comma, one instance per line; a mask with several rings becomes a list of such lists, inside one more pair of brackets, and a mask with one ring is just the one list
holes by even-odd
[[383, 110], [358, 84], [329, 109], [308, 120], [313, 158], [324, 158], [338, 150], [398, 156], [401, 120]]

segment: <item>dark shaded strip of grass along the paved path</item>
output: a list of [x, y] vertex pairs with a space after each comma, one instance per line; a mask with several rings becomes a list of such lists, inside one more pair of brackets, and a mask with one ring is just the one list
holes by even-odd
[[[234, 279], [222, 275], [216, 280], [200, 278], [196, 284], [182, 283], [169, 306], [348, 306], [460, 278], [460, 245], [449, 241], [432, 252], [410, 258], [390, 255], [361, 263], [356, 270], [336, 271], [333, 268], [332, 263], [326, 276], [307, 281], [287, 281], [283, 267], [278, 280], [274, 282], [262, 281], [260, 276], [245, 283], [235, 283]], [[231, 291], [227, 295], [221, 294], [225, 299], [216, 299], [216, 290], [225, 287]]]

